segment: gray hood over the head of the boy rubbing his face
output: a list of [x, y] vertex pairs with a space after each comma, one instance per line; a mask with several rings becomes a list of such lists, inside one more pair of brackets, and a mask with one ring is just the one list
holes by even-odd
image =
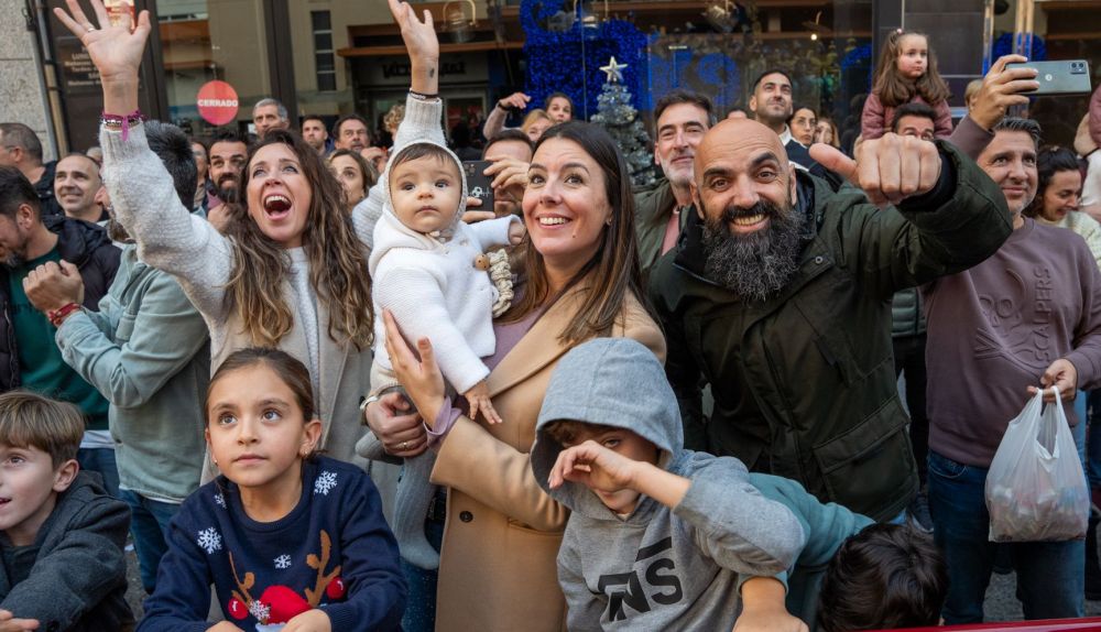
[[[532, 471], [553, 499], [576, 513], [619, 521], [587, 487], [566, 481], [547, 486], [550, 468], [564, 449], [546, 433], [552, 422], [569, 419], [624, 428], [657, 446], [658, 466], [679, 472], [691, 460], [684, 450], [677, 397], [653, 351], [631, 338], [597, 338], [563, 356], [550, 375], [535, 426]], [[656, 503], [643, 497], [628, 519], [645, 522]]]

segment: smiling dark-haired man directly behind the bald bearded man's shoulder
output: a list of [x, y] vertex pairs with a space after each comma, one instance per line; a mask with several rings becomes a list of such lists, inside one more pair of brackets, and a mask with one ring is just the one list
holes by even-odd
[[696, 146], [715, 124], [711, 100], [696, 92], [673, 90], [654, 107], [654, 164], [665, 179], [634, 196], [639, 259], [648, 271], [668, 252], [691, 211], [693, 161]]

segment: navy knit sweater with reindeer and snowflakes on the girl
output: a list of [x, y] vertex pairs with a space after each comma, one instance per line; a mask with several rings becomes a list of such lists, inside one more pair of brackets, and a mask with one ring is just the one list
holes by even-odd
[[333, 630], [399, 630], [405, 609], [379, 492], [362, 470], [326, 457], [303, 464], [302, 498], [275, 522], [250, 519], [225, 477], [188, 497], [139, 630], [206, 630], [211, 584], [243, 630], [279, 630], [312, 608]]

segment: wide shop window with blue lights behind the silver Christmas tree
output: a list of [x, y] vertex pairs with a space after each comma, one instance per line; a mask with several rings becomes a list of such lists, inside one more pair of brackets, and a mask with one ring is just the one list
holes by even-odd
[[[872, 4], [453, 0], [425, 8], [434, 11], [440, 35], [440, 96], [449, 129], [477, 124], [514, 91], [531, 97], [526, 112], [542, 108], [552, 92], [565, 92], [575, 103], [574, 118], [591, 119], [606, 91], [600, 68], [615, 57], [630, 105], [647, 122], [657, 99], [677, 88], [709, 96], [720, 117], [745, 108], [754, 77], [781, 68], [793, 77], [796, 103], [833, 118], [838, 128], [848, 122], [859, 133], [862, 102], [853, 99], [871, 84]], [[347, 77], [351, 95], [299, 109], [335, 115], [351, 107], [378, 122], [408, 87], [401, 39], [389, 14], [341, 13], [339, 3], [331, 7], [337, 84], [342, 88]], [[310, 44], [296, 35], [296, 51]], [[295, 57], [301, 58], [297, 52]], [[298, 75], [299, 95], [316, 89], [302, 77], [319, 68], [318, 62], [316, 69]], [[516, 113], [506, 124], [522, 121], [523, 113]]]

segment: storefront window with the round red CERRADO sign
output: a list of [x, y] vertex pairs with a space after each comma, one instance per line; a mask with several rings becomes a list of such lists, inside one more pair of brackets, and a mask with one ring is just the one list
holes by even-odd
[[[156, 0], [156, 14], [172, 122], [196, 137], [250, 131], [253, 103], [272, 96], [262, 0]], [[220, 118], [200, 111], [199, 90], [212, 80], [236, 94], [236, 115], [226, 115], [224, 91], [204, 101], [221, 106]]]

